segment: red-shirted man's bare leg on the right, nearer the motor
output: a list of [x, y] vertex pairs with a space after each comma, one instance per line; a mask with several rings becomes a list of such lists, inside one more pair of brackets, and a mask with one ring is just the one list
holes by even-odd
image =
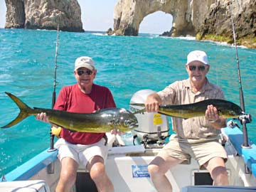
[[87, 169], [90, 171], [90, 176], [97, 186], [97, 191], [114, 191], [114, 186], [105, 171], [104, 159], [101, 156], [92, 157], [87, 164]]

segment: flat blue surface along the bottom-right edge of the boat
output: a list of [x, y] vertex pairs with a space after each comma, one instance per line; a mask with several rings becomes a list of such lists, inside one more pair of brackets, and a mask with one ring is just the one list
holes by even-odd
[[186, 186], [181, 188], [181, 192], [252, 192], [256, 191], [255, 187], [242, 186]]

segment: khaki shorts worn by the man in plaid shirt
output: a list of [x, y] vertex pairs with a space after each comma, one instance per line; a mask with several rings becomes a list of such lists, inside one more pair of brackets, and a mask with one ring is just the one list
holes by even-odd
[[170, 142], [159, 151], [157, 156], [172, 156], [185, 162], [189, 162], [193, 158], [198, 161], [200, 166], [206, 164], [213, 157], [221, 157], [224, 161], [228, 160], [227, 153], [219, 142], [204, 139], [201, 142], [191, 143], [188, 139], [181, 139], [176, 134], [171, 135]]

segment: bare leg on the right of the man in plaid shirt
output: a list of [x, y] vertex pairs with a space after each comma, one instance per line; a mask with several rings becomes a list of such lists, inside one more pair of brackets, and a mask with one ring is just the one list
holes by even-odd
[[213, 157], [203, 166], [210, 172], [214, 186], [228, 186], [228, 172], [221, 157]]

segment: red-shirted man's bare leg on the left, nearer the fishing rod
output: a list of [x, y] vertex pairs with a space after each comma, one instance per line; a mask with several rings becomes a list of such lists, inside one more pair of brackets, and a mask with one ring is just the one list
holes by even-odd
[[55, 192], [70, 192], [75, 184], [78, 163], [70, 157], [61, 160], [60, 179]]

